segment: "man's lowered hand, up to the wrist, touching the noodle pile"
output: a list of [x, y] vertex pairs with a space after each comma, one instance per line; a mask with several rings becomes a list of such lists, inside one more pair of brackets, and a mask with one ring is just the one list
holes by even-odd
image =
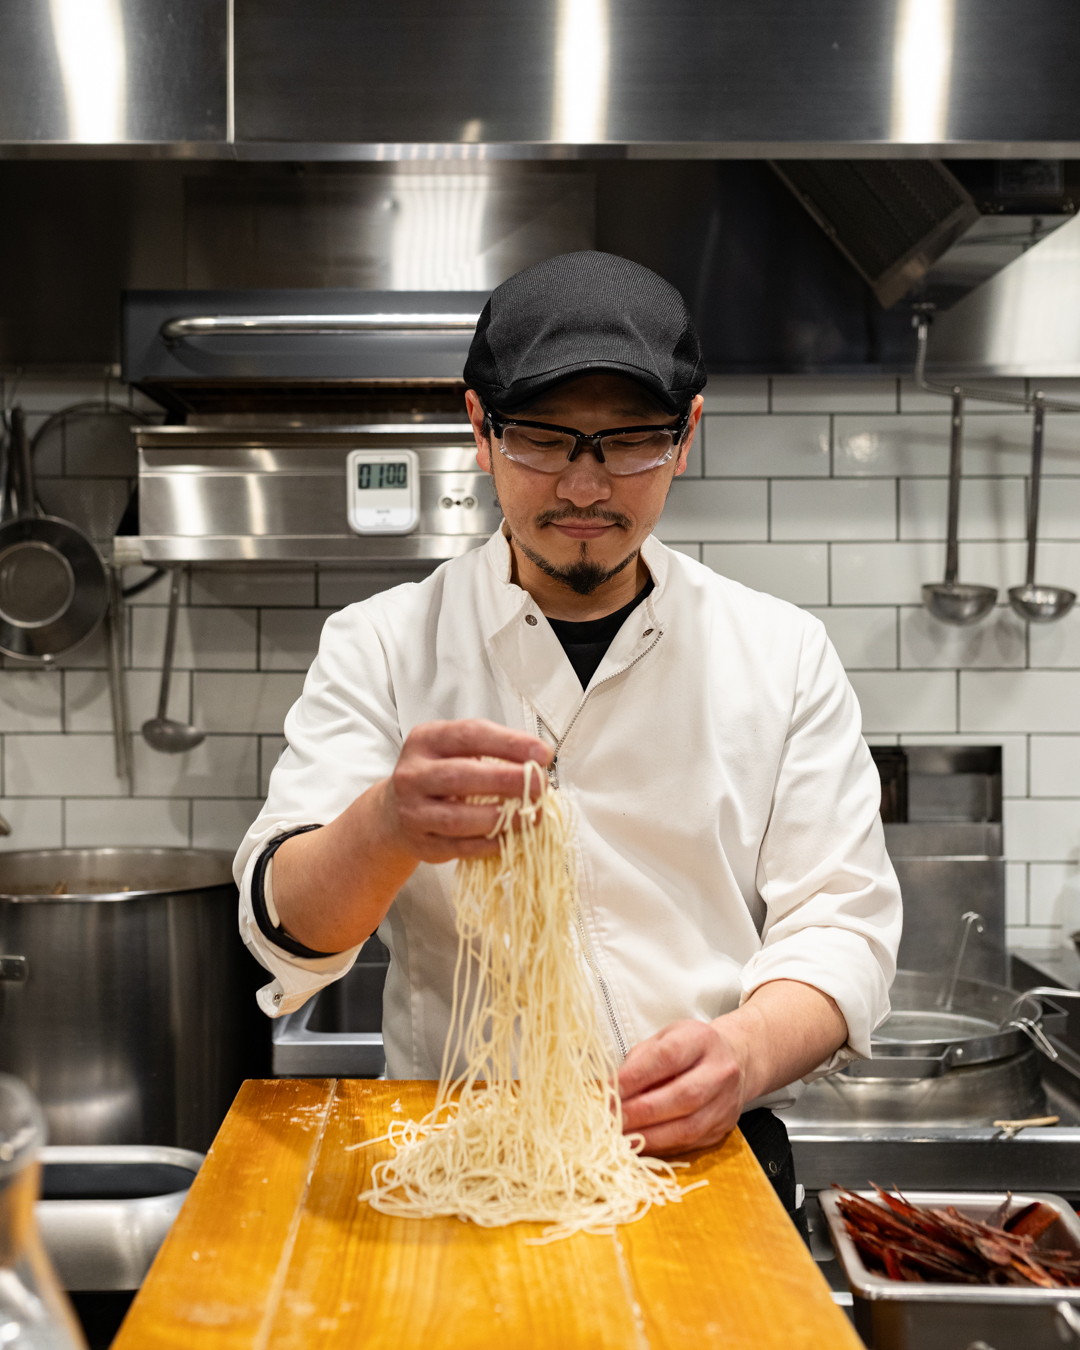
[[622, 1127], [645, 1153], [720, 1143], [742, 1112], [742, 1065], [711, 1022], [672, 1022], [640, 1041], [618, 1071]]

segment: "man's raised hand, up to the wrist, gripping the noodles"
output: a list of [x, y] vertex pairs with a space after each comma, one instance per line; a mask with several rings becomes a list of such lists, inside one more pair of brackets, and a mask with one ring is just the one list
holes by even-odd
[[498, 807], [468, 798], [521, 796], [526, 760], [547, 764], [551, 747], [495, 722], [424, 722], [409, 733], [392, 776], [378, 784], [382, 842], [423, 863], [498, 853], [498, 841], [487, 837]]

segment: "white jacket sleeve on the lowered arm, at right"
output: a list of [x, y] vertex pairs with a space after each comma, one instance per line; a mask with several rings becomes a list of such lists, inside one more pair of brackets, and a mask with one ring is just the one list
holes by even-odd
[[859, 701], [811, 621], [759, 859], [763, 946], [742, 969], [744, 1000], [770, 980], [799, 980], [836, 999], [848, 1042], [806, 1081], [868, 1058], [888, 1015], [902, 907], [880, 798]]

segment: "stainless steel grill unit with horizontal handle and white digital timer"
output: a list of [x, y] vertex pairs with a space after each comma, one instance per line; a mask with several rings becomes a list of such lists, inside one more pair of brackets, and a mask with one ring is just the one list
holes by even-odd
[[[502, 520], [462, 397], [486, 298], [130, 292], [124, 377], [186, 424], [138, 428], [138, 533], [116, 562], [367, 566], [477, 548]], [[370, 504], [382, 487], [359, 463], [402, 470], [408, 521], [358, 520], [359, 489]]]

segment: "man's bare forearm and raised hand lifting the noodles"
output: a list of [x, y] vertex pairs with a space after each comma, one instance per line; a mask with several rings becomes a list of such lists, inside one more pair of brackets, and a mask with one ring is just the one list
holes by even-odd
[[526, 760], [547, 764], [551, 747], [495, 722], [413, 728], [390, 778], [278, 849], [274, 903], [286, 933], [316, 952], [344, 952], [375, 932], [417, 863], [498, 853], [487, 838], [498, 807], [466, 799], [521, 796]]

